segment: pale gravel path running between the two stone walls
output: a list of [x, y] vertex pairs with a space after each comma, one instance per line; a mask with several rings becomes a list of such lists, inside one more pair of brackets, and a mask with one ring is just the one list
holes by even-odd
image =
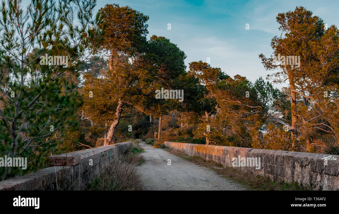
[[144, 190], [246, 190], [205, 167], [138, 141], [145, 150], [145, 163], [138, 166]]

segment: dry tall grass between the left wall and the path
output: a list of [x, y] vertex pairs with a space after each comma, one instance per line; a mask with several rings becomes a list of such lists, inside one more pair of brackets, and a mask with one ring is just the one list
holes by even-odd
[[144, 150], [138, 141], [132, 141], [129, 149], [113, 163], [103, 169], [99, 177], [96, 177], [87, 190], [142, 190], [140, 175], [135, 166], [145, 162], [140, 153]]

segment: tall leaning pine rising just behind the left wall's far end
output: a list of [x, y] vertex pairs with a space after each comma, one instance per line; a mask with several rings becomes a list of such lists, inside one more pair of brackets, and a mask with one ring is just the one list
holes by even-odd
[[[128, 6], [119, 7], [118, 4], [107, 4], [100, 8], [99, 12], [104, 16], [104, 23], [99, 26], [105, 26], [105, 38], [99, 49], [108, 55], [109, 70], [106, 70], [101, 78], [85, 76], [85, 105], [88, 109], [94, 109], [92, 114], [89, 111], [91, 116], [98, 113], [97, 105], [106, 106], [99, 111], [103, 120], [112, 121], [104, 143], [108, 145], [116, 142], [114, 135], [122, 118], [124, 105], [131, 97], [129, 94], [131, 87], [138, 81], [133, 59], [142, 53], [146, 44], [148, 25], [145, 23], [148, 16]], [[95, 99], [89, 98], [90, 91]], [[98, 99], [102, 102], [96, 103]], [[106, 104], [103, 104], [104, 102]], [[114, 119], [111, 115], [115, 115]]]

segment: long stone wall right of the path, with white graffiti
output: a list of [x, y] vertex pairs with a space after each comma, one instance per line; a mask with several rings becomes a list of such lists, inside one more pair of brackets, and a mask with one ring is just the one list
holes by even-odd
[[[276, 151], [202, 144], [165, 142], [167, 147], [189, 156], [213, 160], [253, 175], [268, 176], [286, 183], [297, 182], [314, 190], [339, 190], [339, 155]], [[237, 159], [240, 156], [240, 166]], [[245, 158], [245, 159], [244, 159]], [[260, 158], [260, 167], [252, 158]], [[235, 164], [237, 163], [237, 164]], [[242, 165], [243, 163], [243, 165]], [[251, 166], [252, 165], [252, 166]], [[258, 169], [256, 169], [258, 168]]]

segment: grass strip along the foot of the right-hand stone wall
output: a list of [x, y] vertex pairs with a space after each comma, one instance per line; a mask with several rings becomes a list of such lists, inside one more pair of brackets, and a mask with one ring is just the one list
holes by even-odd
[[297, 183], [288, 184], [283, 181], [273, 181], [270, 177], [263, 177], [260, 175], [255, 176], [250, 173], [234, 169], [233, 167], [223, 167], [214, 161], [206, 161], [199, 156], [190, 157], [178, 150], [173, 150], [172, 148], [166, 150], [169, 153], [191, 161], [199, 166], [207, 167], [224, 178], [236, 181], [248, 190], [309, 190], [304, 187], [300, 187]]

